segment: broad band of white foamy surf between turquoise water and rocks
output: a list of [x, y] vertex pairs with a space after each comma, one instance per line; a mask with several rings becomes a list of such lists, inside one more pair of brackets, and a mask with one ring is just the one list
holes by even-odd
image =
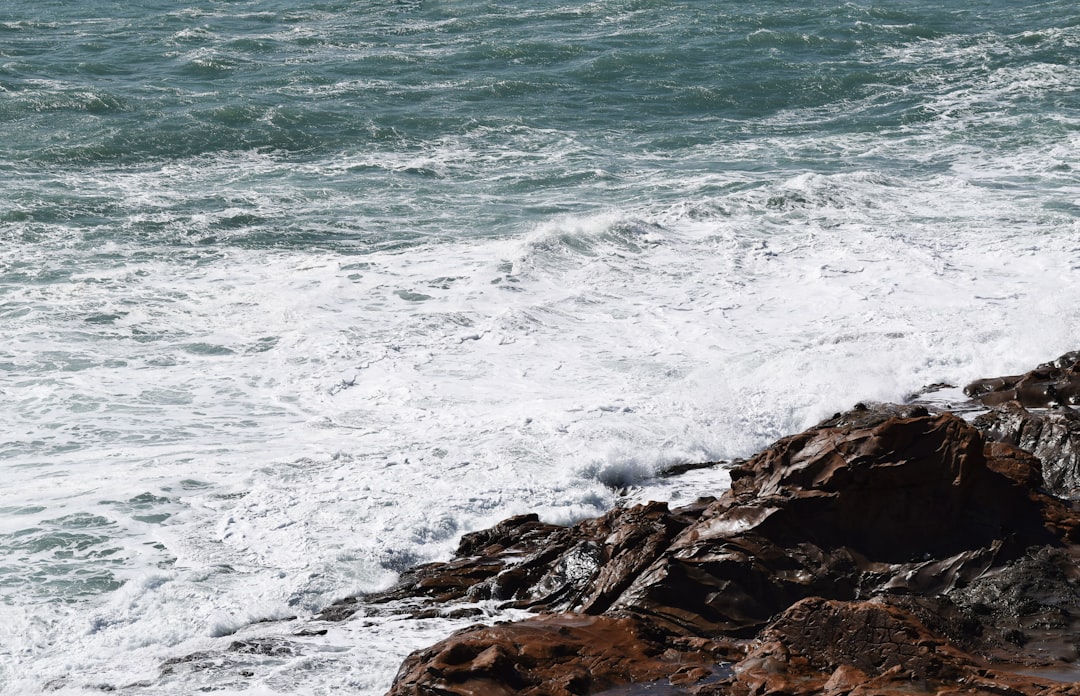
[[[161, 666], [237, 633], [285, 635], [509, 514], [569, 523], [626, 488], [675, 503], [716, 493], [723, 471], [654, 474], [746, 456], [858, 400], [1068, 347], [1077, 313], [1054, 279], [1075, 259], [1058, 253], [1061, 236], [1017, 256], [986, 253], [1005, 240], [962, 223], [948, 247], [929, 244], [929, 230], [927, 242], [878, 233], [868, 218], [909, 215], [887, 208], [880, 186], [800, 176], [742, 215], [612, 212], [554, 219], [521, 241], [363, 260], [243, 251], [109, 282], [72, 275], [80, 292], [17, 334], [23, 354], [87, 325], [117, 292], [143, 299], [89, 324], [93, 360], [72, 351], [79, 369], [9, 388], [24, 404], [14, 432], [32, 452], [9, 456], [18, 485], [3, 505], [30, 497], [40, 509], [9, 518], [8, 545], [46, 586], [106, 570], [86, 577], [77, 607], [21, 610], [15, 644], [35, 647], [13, 654], [9, 683], [78, 691], [96, 673], [170, 691], [184, 673], [231, 688], [228, 670], [176, 667], [166, 679]], [[794, 213], [775, 203], [793, 197]], [[837, 201], [872, 198], [876, 209], [837, 223], [852, 208]], [[802, 232], [740, 235], [774, 215]], [[50, 464], [65, 446], [77, 456]], [[25, 601], [16, 589], [9, 598]], [[327, 633], [376, 641], [361, 650], [383, 666], [373, 691], [434, 634], [384, 644], [383, 624]], [[79, 637], [79, 660], [62, 635]], [[312, 652], [343, 660], [324, 685], [351, 683], [345, 664], [374, 659], [321, 637], [302, 643], [245, 667], [257, 677], [235, 688], [280, 688]]]

